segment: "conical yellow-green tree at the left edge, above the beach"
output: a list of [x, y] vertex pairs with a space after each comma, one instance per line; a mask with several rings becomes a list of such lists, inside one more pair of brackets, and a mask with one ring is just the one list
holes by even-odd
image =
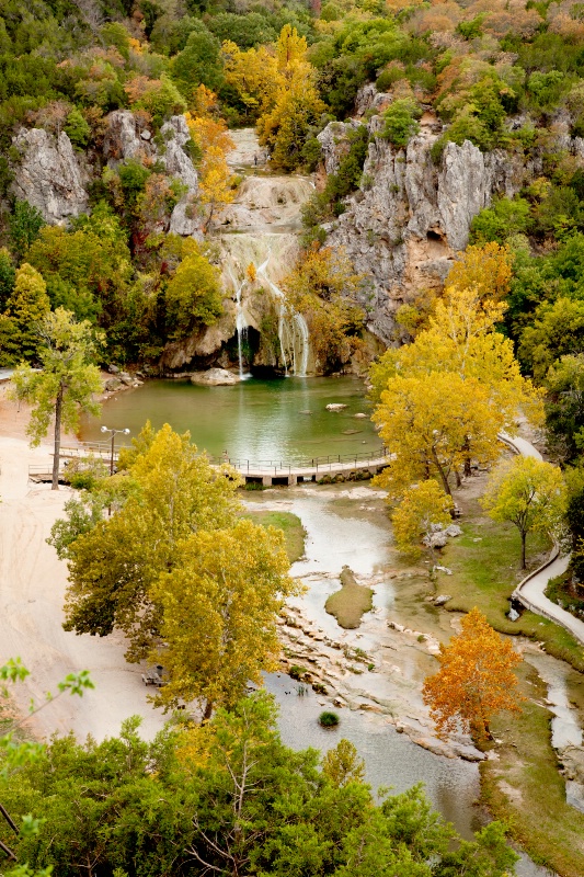
[[50, 301], [42, 275], [27, 262], [16, 271], [14, 287], [0, 315], [0, 363], [13, 365], [38, 358], [38, 323], [48, 314]]

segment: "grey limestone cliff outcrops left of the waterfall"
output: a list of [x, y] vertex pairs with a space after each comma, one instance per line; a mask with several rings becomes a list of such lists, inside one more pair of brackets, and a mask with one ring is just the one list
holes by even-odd
[[184, 116], [172, 116], [161, 128], [164, 145], [153, 143], [152, 133], [140, 127], [129, 110], [117, 110], [107, 116], [107, 129], [101, 155], [93, 155], [93, 164], [73, 150], [67, 134], [58, 137], [43, 128], [22, 129], [13, 139], [21, 160], [14, 166], [12, 191], [20, 200], [37, 207], [50, 225], [65, 225], [70, 217], [88, 209], [85, 186], [101, 173], [102, 164], [116, 167], [127, 159], [146, 158], [163, 164], [169, 176], [180, 180], [185, 193], [174, 207], [170, 231], [198, 236], [201, 218], [196, 210], [198, 178], [184, 150], [190, 139]]

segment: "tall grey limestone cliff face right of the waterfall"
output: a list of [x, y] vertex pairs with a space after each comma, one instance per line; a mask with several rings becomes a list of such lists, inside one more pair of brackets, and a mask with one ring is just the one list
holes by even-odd
[[[382, 104], [387, 95], [365, 94], [365, 104]], [[367, 107], [366, 107], [367, 109]], [[347, 150], [348, 129], [359, 124], [331, 123], [319, 135], [327, 173], [337, 170]], [[368, 123], [371, 140], [362, 187], [346, 200], [346, 210], [327, 226], [327, 243], [344, 247], [358, 272], [370, 278], [363, 304], [368, 327], [386, 344], [396, 341], [393, 315], [404, 301], [444, 282], [457, 251], [468, 243], [470, 224], [493, 195], [514, 195], [524, 168], [507, 152], [483, 153], [470, 141], [449, 143], [439, 164], [431, 148], [442, 125], [431, 113], [405, 149], [379, 134], [382, 123]]]

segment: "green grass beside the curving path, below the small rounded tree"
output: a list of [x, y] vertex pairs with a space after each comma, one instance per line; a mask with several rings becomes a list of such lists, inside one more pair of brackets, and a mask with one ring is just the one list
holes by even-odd
[[438, 572], [437, 593], [450, 594], [446, 608], [470, 612], [473, 606], [502, 634], [523, 635], [543, 642], [546, 651], [584, 671], [584, 652], [560, 625], [531, 612], [516, 622], [507, 618], [509, 597], [529, 569], [540, 566], [551, 548], [543, 536], [527, 537], [528, 570], [520, 569], [520, 538], [512, 524], [501, 524], [483, 516], [477, 501], [468, 503], [460, 522], [463, 534], [444, 548], [440, 563], [451, 576]]

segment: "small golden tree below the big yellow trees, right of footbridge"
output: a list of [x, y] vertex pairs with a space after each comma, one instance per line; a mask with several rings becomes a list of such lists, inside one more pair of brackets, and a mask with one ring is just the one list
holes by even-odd
[[408, 488], [391, 513], [398, 550], [417, 559], [422, 554], [422, 539], [431, 536], [433, 524], [446, 526], [450, 523], [453, 508], [453, 498], [433, 478]]

